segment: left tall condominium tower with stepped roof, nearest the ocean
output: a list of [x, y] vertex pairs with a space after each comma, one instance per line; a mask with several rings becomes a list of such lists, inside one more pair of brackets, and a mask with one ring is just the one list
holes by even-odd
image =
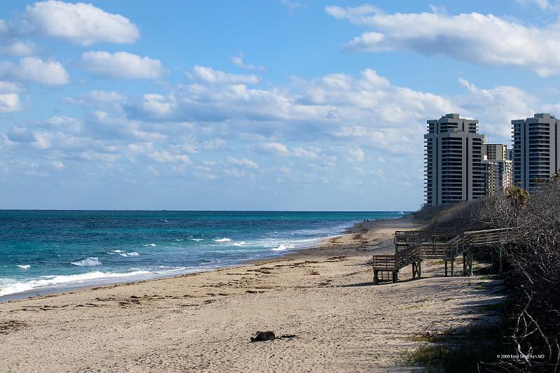
[[428, 134], [424, 135], [426, 204], [440, 206], [484, 197], [484, 135], [477, 132], [478, 120], [458, 114], [428, 120]]

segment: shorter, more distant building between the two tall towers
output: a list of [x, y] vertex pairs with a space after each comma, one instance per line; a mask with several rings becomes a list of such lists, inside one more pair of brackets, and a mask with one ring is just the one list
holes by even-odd
[[486, 195], [493, 195], [512, 185], [512, 161], [507, 160], [507, 153], [507, 146], [501, 143], [486, 143], [482, 146]]

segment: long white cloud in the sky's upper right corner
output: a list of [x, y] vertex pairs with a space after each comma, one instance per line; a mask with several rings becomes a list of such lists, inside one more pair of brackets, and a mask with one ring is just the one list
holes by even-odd
[[491, 14], [385, 14], [369, 5], [328, 6], [325, 10], [333, 17], [375, 30], [349, 41], [349, 50], [412, 50], [487, 66], [520, 66], [540, 76], [560, 74], [560, 20], [527, 27]]

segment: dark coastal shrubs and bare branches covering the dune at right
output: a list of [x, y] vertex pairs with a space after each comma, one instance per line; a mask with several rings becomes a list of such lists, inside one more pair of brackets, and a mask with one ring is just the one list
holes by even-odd
[[[472, 344], [469, 338], [461, 339], [461, 343], [441, 344], [441, 337], [437, 337], [433, 344], [405, 354], [403, 361], [423, 365], [432, 372], [457, 372], [462, 360], [470, 361], [470, 369], [480, 372], [556, 372], [560, 364], [558, 176], [540, 181], [538, 190], [531, 195], [511, 187], [503, 193], [447, 208], [426, 206], [414, 216], [432, 228], [444, 228], [450, 236], [471, 230], [510, 228], [511, 242], [502, 248], [502, 277], [508, 301], [496, 310], [502, 322], [493, 328], [499, 332], [486, 334], [492, 347]], [[488, 260], [489, 253], [479, 251], [477, 257]], [[474, 339], [478, 341], [480, 335]]]

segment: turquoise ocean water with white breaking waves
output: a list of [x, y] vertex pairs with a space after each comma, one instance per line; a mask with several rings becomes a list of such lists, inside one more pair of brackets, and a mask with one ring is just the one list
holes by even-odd
[[171, 276], [282, 255], [399, 212], [0, 211], [6, 295]]

